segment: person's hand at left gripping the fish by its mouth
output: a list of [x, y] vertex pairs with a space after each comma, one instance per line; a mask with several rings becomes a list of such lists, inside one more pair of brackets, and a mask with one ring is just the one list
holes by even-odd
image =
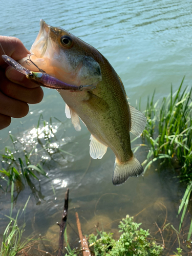
[[[30, 54], [22, 41], [15, 37], [0, 36], [5, 54], [18, 60]], [[29, 105], [39, 103], [44, 96], [38, 84], [12, 67], [1, 57], [4, 54], [0, 46], [0, 130], [9, 126], [11, 117], [24, 117], [29, 112]]]

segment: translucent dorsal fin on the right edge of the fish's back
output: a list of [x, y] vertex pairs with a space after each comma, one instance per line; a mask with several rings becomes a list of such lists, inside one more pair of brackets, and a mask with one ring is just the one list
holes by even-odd
[[146, 117], [138, 110], [136, 110], [133, 106], [130, 106], [131, 112], [131, 130], [130, 132], [140, 137], [144, 127], [146, 125]]

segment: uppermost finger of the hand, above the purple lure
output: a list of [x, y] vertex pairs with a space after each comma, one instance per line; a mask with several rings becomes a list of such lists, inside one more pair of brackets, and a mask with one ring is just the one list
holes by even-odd
[[[22, 41], [16, 37], [0, 36], [0, 42], [3, 49], [0, 47], [0, 56], [6, 54], [11, 58], [17, 60], [22, 59], [30, 54], [30, 51], [25, 48]], [[4, 51], [3, 51], [4, 50]], [[5, 61], [0, 57], [0, 66], [4, 66]]]

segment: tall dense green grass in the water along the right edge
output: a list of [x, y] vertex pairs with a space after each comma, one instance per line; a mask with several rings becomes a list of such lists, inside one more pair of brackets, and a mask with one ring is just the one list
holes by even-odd
[[[155, 161], [169, 159], [180, 178], [187, 184], [178, 215], [181, 214], [179, 231], [187, 212], [187, 206], [192, 191], [192, 87], [185, 87], [181, 91], [184, 78], [179, 89], [173, 93], [172, 86], [167, 98], [154, 103], [155, 92], [152, 99], [148, 97], [145, 116], [147, 118], [143, 138], [148, 142], [150, 149], [146, 160], [144, 173]], [[146, 146], [146, 145], [145, 145]], [[182, 211], [183, 210], [183, 211]], [[189, 227], [187, 240], [192, 232], [192, 221]]]

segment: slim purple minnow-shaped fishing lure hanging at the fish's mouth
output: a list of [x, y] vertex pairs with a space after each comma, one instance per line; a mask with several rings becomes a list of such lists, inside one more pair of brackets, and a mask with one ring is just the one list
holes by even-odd
[[[29, 69], [26, 69], [22, 65], [20, 65], [16, 60], [13, 58], [2, 55], [2, 58], [5, 60], [6, 63], [8, 63], [11, 67], [19, 71], [20, 73], [26, 75], [26, 77], [30, 80], [33, 80], [35, 83], [39, 84], [39, 86], [44, 86], [51, 89], [57, 89], [57, 90], [70, 90], [70, 91], [88, 91], [93, 90], [96, 87], [91, 86], [73, 86], [72, 84], [63, 82], [54, 76], [51, 76], [47, 74], [44, 70], [39, 69], [36, 65], [36, 67], [39, 69], [39, 72], [31, 71]], [[32, 62], [32, 60], [29, 58], [29, 60]], [[32, 62], [33, 63], [33, 62]], [[34, 64], [34, 63], [33, 63]]]

